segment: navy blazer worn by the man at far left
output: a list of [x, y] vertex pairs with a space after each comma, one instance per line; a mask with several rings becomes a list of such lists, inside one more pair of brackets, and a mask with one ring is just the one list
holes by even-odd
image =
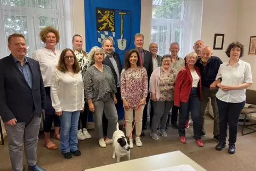
[[3, 122], [16, 118], [29, 122], [33, 115], [41, 116], [45, 106], [45, 88], [39, 63], [27, 57], [32, 74], [32, 88], [15, 64], [12, 55], [0, 60], [0, 114]]

